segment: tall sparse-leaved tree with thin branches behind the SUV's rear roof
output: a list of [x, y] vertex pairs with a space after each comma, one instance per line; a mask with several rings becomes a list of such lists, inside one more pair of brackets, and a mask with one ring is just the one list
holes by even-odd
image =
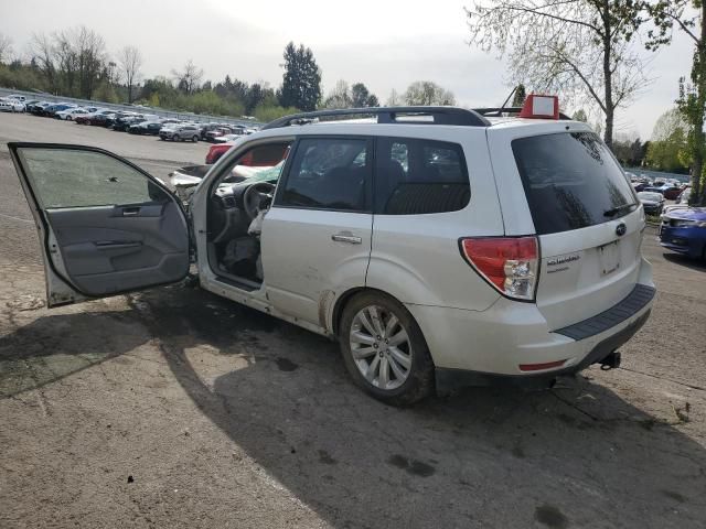
[[[666, 1], [666, 0], [665, 0]], [[641, 0], [489, 0], [467, 9], [471, 43], [509, 54], [513, 76], [535, 90], [595, 102], [610, 147], [616, 110], [643, 87], [632, 36], [644, 21]]]

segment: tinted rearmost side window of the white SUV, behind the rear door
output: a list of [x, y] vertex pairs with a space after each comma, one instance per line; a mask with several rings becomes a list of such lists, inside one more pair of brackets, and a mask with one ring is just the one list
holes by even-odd
[[410, 138], [377, 140], [375, 213], [457, 212], [466, 207], [470, 198], [460, 145]]

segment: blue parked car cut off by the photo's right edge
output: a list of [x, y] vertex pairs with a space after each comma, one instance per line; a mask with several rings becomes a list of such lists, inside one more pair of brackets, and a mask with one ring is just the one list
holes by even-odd
[[680, 207], [665, 213], [660, 244], [672, 251], [706, 259], [706, 207]]

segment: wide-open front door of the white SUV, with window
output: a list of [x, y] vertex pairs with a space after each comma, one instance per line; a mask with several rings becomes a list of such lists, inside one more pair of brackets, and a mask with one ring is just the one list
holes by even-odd
[[159, 181], [101, 149], [8, 148], [39, 229], [47, 306], [186, 276], [186, 217]]

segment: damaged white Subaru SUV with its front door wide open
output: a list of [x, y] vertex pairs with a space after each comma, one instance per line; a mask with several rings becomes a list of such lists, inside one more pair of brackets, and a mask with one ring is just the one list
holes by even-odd
[[282, 118], [213, 166], [189, 218], [109, 152], [9, 148], [49, 306], [179, 281], [195, 252], [202, 288], [339, 339], [395, 404], [616, 367], [655, 292], [630, 182], [552, 98]]

